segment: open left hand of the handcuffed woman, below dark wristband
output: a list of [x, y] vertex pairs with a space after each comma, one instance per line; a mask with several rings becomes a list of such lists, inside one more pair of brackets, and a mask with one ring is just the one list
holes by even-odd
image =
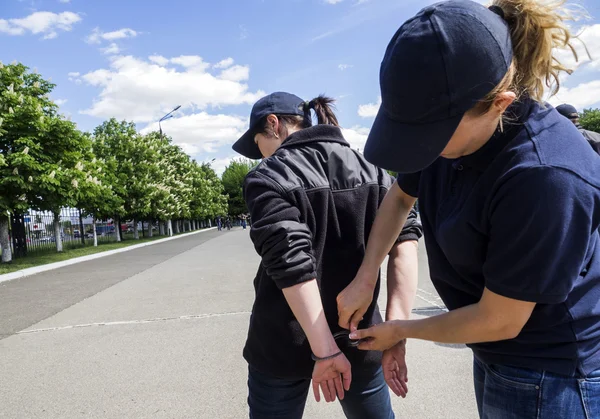
[[[344, 354], [326, 361], [315, 362], [313, 369], [313, 392], [315, 400], [321, 401], [319, 386], [327, 403], [334, 402], [336, 393], [340, 400], [344, 400], [344, 390], [350, 390], [352, 372], [350, 362]], [[343, 384], [342, 384], [343, 383]]]

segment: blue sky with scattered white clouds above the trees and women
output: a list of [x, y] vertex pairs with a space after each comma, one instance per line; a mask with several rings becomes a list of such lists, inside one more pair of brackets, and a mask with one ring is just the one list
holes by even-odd
[[[57, 84], [53, 99], [80, 129], [112, 116], [142, 132], [163, 124], [221, 171], [254, 101], [284, 90], [338, 99], [347, 139], [362, 148], [377, 110], [387, 43], [430, 0], [0, 0], [0, 60]], [[583, 38], [592, 54], [553, 103], [600, 106], [600, 2]]]

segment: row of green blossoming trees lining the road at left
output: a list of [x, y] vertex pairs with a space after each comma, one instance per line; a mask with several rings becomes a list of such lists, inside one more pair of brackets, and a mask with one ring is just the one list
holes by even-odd
[[0, 63], [3, 262], [12, 258], [10, 214], [30, 209], [54, 214], [59, 252], [63, 207], [80, 208], [94, 220], [112, 218], [117, 226], [121, 219], [133, 220], [136, 238], [138, 220], [164, 221], [172, 229], [171, 220], [227, 213], [223, 185], [209, 165], [157, 132], [140, 135], [131, 122], [111, 119], [93, 133], [79, 131], [50, 99], [54, 87], [23, 64]]

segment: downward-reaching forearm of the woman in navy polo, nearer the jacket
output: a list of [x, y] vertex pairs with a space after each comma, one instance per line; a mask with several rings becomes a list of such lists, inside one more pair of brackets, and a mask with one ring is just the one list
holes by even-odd
[[377, 212], [358, 276], [369, 278], [370, 281], [377, 280], [375, 273], [398, 239], [414, 202], [414, 198], [406, 195], [398, 184], [394, 183]]

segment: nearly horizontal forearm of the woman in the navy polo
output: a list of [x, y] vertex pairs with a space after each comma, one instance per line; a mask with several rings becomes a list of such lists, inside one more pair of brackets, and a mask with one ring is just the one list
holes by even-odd
[[439, 343], [497, 342], [518, 335], [513, 325], [495, 320], [480, 304], [421, 320], [398, 321], [395, 330], [398, 340], [412, 338]]

